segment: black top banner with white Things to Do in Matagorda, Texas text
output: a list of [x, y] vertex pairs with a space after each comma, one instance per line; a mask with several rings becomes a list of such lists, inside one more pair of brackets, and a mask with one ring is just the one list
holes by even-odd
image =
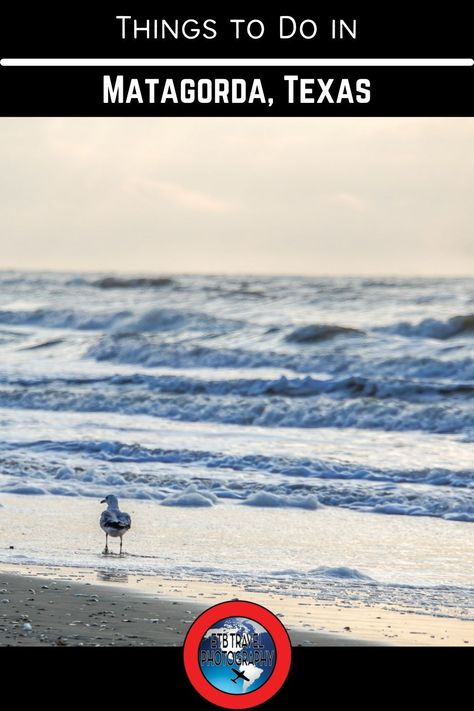
[[[460, 3], [433, 12], [280, 3], [264, 13], [83, 3], [0, 18], [3, 116], [474, 114], [474, 41]], [[76, 65], [38, 66], [45, 59]]]

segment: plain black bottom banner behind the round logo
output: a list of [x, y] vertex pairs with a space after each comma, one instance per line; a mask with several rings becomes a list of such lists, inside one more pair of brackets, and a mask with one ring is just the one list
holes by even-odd
[[[149, 705], [156, 699], [157, 705], [165, 707], [216, 708], [192, 688], [178, 648], [44, 648], [40, 654], [31, 648], [0, 651], [9, 680], [21, 682], [24, 669], [28, 669], [30, 687], [44, 689], [52, 708], [59, 699], [61, 705], [65, 703], [61, 680], [73, 687], [77, 703], [88, 704], [113, 694], [122, 703], [134, 705]], [[357, 702], [380, 708], [388, 697], [402, 706], [408, 699], [412, 705], [429, 706], [445, 697], [456, 705], [464, 698], [464, 688], [449, 681], [453, 678], [450, 667], [457, 678], [466, 678], [471, 658], [469, 650], [455, 648], [297, 647], [286, 683], [261, 708], [317, 708]], [[52, 674], [54, 679], [48, 682]]]

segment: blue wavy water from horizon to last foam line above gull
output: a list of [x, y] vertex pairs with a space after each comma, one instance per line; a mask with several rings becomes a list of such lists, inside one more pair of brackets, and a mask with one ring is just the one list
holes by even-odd
[[1, 273], [0, 492], [472, 522], [473, 314], [472, 279]]

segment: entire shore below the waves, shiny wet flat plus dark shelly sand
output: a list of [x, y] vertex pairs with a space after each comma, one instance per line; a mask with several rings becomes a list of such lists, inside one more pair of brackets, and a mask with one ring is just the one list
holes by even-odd
[[[421, 553], [428, 560], [435, 537], [449, 527], [453, 553], [445, 566], [452, 576], [463, 544], [456, 522], [330, 510], [300, 516], [259, 509], [255, 516], [235, 505], [181, 509], [128, 501], [134, 527], [119, 556], [115, 541], [114, 554], [101, 552], [96, 499], [8, 494], [0, 503], [0, 645], [181, 645], [200, 611], [234, 598], [278, 615], [294, 645], [474, 645], [467, 587], [391, 585], [332, 567], [354, 563], [358, 551], [365, 556], [359, 570], [376, 572], [370, 541], [392, 550], [395, 566], [396, 543], [409, 523], [419, 548], [404, 551], [407, 575], [416, 574]], [[229, 540], [222, 535], [232, 516], [242, 531], [253, 527], [252, 546], [238, 529]], [[287, 552], [285, 526], [298, 541]], [[336, 530], [338, 536], [329, 535]], [[297, 555], [307, 572], [295, 576]], [[326, 567], [315, 568], [316, 560]], [[259, 576], [247, 573], [259, 564]]]

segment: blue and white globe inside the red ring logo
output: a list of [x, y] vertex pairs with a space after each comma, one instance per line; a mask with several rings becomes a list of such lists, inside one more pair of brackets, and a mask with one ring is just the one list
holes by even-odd
[[227, 694], [248, 694], [263, 686], [275, 668], [275, 643], [261, 624], [226, 617], [204, 634], [199, 666], [207, 681]]

